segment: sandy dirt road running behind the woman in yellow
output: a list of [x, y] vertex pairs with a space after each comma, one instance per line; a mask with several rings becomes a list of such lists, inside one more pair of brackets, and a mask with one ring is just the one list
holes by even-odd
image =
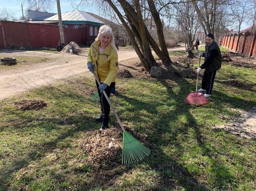
[[[184, 46], [173, 50], [185, 50]], [[26, 90], [42, 85], [51, 84], [57, 80], [66, 79], [77, 74], [91, 75], [87, 69], [87, 57], [85, 55], [53, 54], [35, 51], [1, 51], [8, 56], [40, 56], [46, 58], [58, 58], [57, 61], [37, 63], [23, 68], [0, 71], [0, 100]], [[134, 50], [120, 49], [119, 62], [138, 57]], [[56, 60], [56, 59], [55, 59]]]

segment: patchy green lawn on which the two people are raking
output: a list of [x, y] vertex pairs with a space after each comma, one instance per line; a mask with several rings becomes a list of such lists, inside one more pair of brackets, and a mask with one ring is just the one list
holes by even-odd
[[[223, 63], [202, 107], [183, 99], [196, 79], [117, 79], [111, 101], [121, 121], [147, 135], [150, 157], [138, 164], [98, 169], [81, 147], [100, 128], [100, 105], [85, 94], [92, 75], [33, 89], [0, 101], [0, 191], [9, 190], [235, 190], [256, 188], [256, 141], [213, 126], [256, 105], [255, 86], [225, 85], [231, 77], [256, 83], [255, 70]], [[48, 107], [21, 111], [14, 102], [44, 100]], [[110, 125], [115, 117], [110, 112]]]

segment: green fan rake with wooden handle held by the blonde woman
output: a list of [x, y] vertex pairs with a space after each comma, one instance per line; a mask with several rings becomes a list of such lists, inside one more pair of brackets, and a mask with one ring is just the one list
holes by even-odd
[[[98, 77], [96, 76], [95, 72], [93, 72], [93, 75], [99, 85], [101, 85]], [[110, 102], [106, 92], [103, 90], [103, 94], [106, 97], [108, 104], [112, 111], [114, 112], [116, 119], [123, 130], [123, 152], [122, 152], [122, 164], [130, 164], [133, 162], [139, 162], [149, 156], [150, 150], [144, 146], [140, 141], [138, 141], [136, 138], [134, 138], [131, 134], [129, 134], [127, 131], [125, 131], [125, 128], [119, 119], [112, 103]]]

